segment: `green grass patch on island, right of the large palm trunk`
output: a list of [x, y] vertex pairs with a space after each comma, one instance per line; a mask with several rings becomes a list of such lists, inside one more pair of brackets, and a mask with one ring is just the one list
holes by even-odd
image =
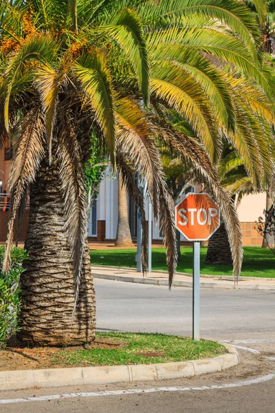
[[152, 364], [204, 359], [225, 353], [223, 346], [212, 341], [144, 333], [98, 332], [92, 346], [91, 350], [65, 348], [55, 352], [51, 363], [62, 366]]

